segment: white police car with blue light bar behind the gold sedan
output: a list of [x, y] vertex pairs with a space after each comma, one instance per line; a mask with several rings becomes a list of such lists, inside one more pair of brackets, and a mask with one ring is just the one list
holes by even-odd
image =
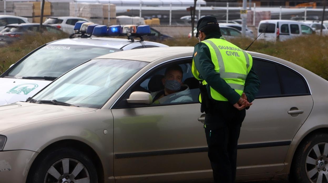
[[[117, 51], [166, 47], [143, 41], [149, 26], [110, 26], [79, 21], [69, 39], [47, 43], [24, 56], [0, 76], [0, 105], [26, 101], [51, 81], [92, 58]], [[74, 36], [78, 37], [74, 37]], [[128, 36], [128, 39], [91, 36]], [[134, 38], [140, 40], [134, 40]], [[88, 78], [85, 78], [86, 80]]]

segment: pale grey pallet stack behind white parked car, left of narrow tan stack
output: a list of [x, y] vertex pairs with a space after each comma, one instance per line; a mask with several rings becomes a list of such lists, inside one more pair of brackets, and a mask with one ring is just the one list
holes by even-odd
[[70, 3], [70, 16], [83, 17], [95, 24], [102, 24], [103, 6], [99, 3]]

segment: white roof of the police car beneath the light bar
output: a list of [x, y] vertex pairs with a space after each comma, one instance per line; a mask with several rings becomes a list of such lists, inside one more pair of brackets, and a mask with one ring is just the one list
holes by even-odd
[[[139, 40], [135, 40], [133, 43], [137, 43]], [[81, 46], [101, 46], [115, 49], [121, 49], [122, 47], [133, 44], [128, 39], [122, 38], [104, 38], [104, 37], [91, 37], [91, 38], [66, 38], [48, 43], [48, 45], [81, 45]], [[154, 45], [154, 42], [143, 41], [144, 45]], [[160, 43], [155, 43], [158, 46], [166, 46]], [[140, 45], [141, 46], [141, 45]]]

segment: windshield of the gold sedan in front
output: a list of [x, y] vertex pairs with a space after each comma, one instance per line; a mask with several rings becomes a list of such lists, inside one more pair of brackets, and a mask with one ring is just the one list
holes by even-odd
[[145, 65], [132, 60], [94, 59], [58, 78], [33, 99], [99, 109]]

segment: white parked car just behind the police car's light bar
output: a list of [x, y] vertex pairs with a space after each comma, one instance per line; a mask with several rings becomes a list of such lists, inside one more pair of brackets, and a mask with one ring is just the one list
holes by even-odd
[[74, 16], [58, 16], [58, 17], [47, 17], [43, 24], [48, 24], [54, 27], [59, 28], [60, 30], [72, 34], [74, 33], [75, 23], [78, 21], [87, 21], [89, 20], [81, 17]]

